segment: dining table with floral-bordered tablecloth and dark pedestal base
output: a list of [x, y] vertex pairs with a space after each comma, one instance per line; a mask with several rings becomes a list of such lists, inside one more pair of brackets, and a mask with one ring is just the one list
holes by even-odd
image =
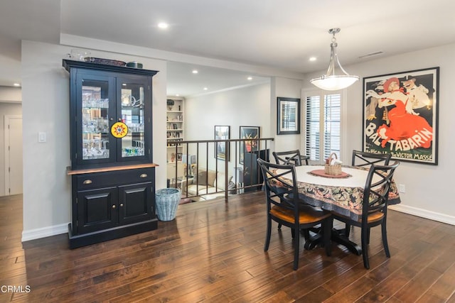
[[[296, 184], [299, 187], [301, 200], [311, 206], [333, 211], [342, 216], [358, 221], [362, 216], [363, 191], [368, 177], [368, 168], [345, 166], [341, 167], [340, 175], [327, 175], [325, 165], [296, 166]], [[279, 173], [279, 170], [277, 170]], [[376, 177], [373, 177], [375, 182]], [[291, 174], [283, 175], [283, 182], [291, 184]], [[399, 204], [400, 194], [397, 184], [392, 180], [388, 204]], [[332, 241], [339, 243], [356, 255], [362, 254], [357, 243], [350, 241], [344, 229], [332, 229]], [[305, 243], [306, 249], [314, 248], [321, 241], [321, 235], [316, 233]]]

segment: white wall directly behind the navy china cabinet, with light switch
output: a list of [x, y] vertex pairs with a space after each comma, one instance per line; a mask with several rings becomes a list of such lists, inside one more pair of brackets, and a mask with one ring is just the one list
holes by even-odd
[[[62, 59], [71, 48], [47, 43], [22, 43], [23, 95], [23, 234], [22, 240], [68, 231], [71, 183], [69, 77]], [[156, 187], [166, 187], [166, 62], [92, 50], [92, 56], [137, 60], [159, 70], [153, 79], [154, 162]], [[38, 131], [47, 142], [38, 143]]]

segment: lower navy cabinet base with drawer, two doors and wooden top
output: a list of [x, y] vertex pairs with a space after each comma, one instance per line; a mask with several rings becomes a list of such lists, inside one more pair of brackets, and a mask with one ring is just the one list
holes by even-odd
[[70, 248], [156, 229], [154, 166], [70, 170], [73, 187], [73, 222], [68, 224]]

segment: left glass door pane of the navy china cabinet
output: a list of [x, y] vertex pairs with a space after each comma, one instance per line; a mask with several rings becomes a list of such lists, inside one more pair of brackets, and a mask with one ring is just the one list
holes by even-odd
[[[109, 162], [112, 153], [112, 136], [109, 135], [110, 121], [114, 116], [115, 103], [113, 82], [109, 77], [79, 75], [77, 89], [77, 162]], [[109, 92], [112, 90], [112, 92]]]

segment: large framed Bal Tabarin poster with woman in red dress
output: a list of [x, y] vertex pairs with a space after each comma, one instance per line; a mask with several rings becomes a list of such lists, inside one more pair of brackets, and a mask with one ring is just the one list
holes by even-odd
[[363, 150], [438, 164], [439, 67], [363, 78]]

